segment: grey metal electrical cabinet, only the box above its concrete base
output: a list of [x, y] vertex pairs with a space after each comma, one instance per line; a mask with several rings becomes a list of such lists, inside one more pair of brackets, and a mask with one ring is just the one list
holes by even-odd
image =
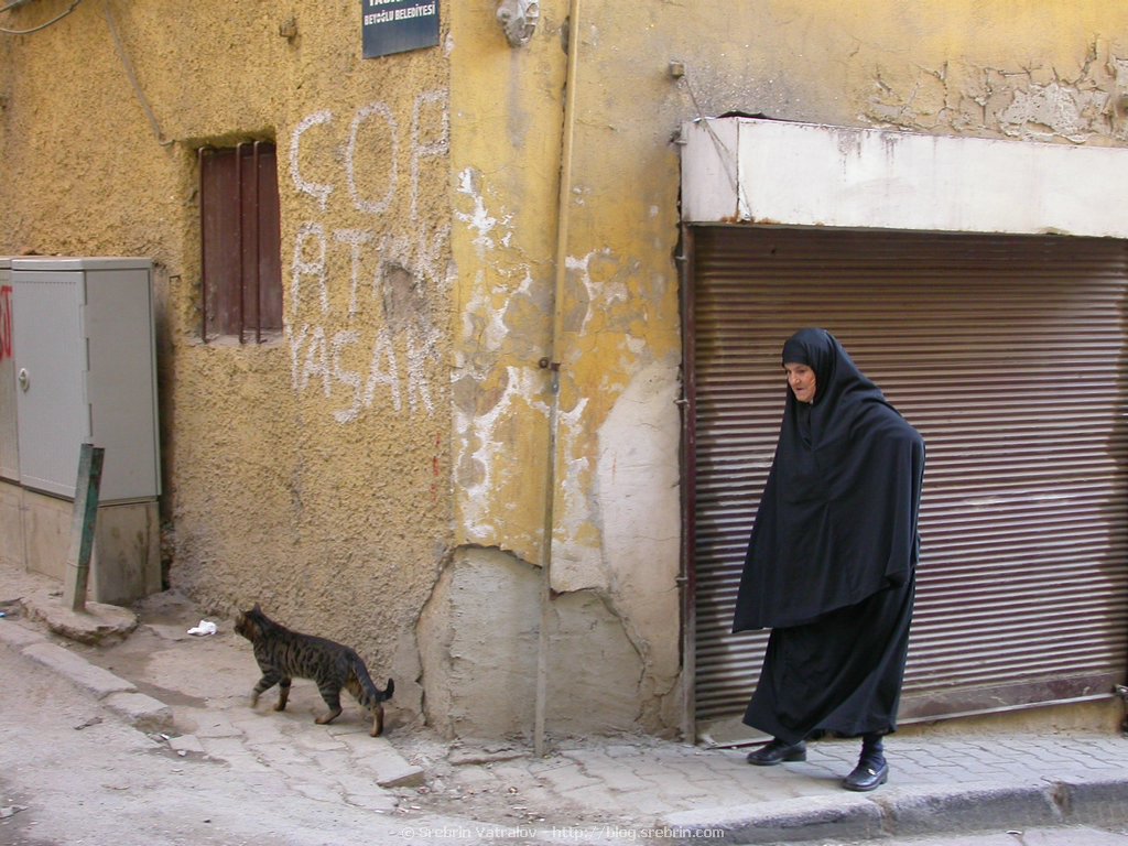
[[11, 259], [19, 483], [73, 499], [79, 448], [105, 449], [99, 502], [160, 494], [152, 263]]

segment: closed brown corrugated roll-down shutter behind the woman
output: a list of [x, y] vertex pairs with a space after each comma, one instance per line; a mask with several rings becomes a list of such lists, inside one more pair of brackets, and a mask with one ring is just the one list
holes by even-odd
[[901, 719], [1111, 693], [1128, 667], [1121, 241], [691, 230], [695, 707], [747, 705], [766, 633], [729, 634], [785, 382], [832, 332], [920, 431], [923, 556]]

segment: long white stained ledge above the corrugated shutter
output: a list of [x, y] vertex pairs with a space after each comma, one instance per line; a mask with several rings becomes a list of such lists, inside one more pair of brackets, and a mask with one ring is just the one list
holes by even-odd
[[682, 219], [1128, 237], [1128, 150], [744, 117], [682, 127]]

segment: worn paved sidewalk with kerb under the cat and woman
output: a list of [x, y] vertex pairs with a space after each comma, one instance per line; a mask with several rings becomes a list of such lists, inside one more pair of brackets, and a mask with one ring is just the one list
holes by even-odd
[[[406, 838], [449, 843], [821, 844], [1057, 825], [1128, 828], [1128, 740], [1114, 733], [902, 731], [887, 739], [891, 775], [870, 794], [839, 786], [857, 741], [810, 744], [808, 760], [751, 767], [747, 750], [652, 738], [561, 741], [543, 758], [523, 744], [446, 742], [396, 726], [367, 734], [346, 696], [332, 725], [297, 681], [290, 708], [247, 705], [257, 668], [231, 620], [187, 634], [200, 616], [162, 594], [136, 627], [88, 645], [51, 580], [0, 566], [0, 644], [69, 678], [122, 720], [183, 757], [222, 761], [296, 794], [402, 823]], [[81, 620], [79, 620], [81, 624]], [[125, 632], [125, 629], [132, 629]]]

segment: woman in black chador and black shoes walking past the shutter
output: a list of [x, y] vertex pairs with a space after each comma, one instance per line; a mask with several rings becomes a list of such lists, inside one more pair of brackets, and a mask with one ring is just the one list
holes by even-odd
[[783, 347], [787, 405], [737, 596], [733, 632], [770, 628], [748, 756], [807, 759], [816, 731], [862, 737], [843, 782], [889, 778], [919, 552], [924, 440], [823, 329]]

